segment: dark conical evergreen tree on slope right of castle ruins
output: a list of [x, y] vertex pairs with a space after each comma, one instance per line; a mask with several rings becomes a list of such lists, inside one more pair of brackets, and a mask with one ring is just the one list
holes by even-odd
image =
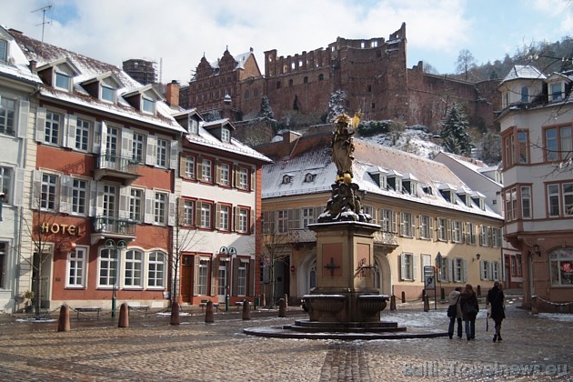
[[467, 134], [467, 116], [462, 106], [454, 104], [446, 119], [442, 122], [442, 146], [447, 152], [469, 156], [471, 153], [471, 136]]

